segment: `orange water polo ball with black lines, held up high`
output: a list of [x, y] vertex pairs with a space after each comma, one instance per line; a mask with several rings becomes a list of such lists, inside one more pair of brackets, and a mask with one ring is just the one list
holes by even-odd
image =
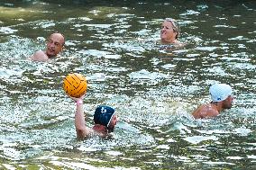
[[71, 97], [80, 97], [87, 93], [87, 78], [78, 73], [72, 73], [63, 80], [63, 90]]

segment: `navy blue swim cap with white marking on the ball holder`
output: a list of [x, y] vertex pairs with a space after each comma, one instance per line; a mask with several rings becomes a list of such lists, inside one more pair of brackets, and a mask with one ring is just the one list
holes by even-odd
[[112, 107], [100, 105], [96, 108], [94, 121], [96, 124], [101, 124], [108, 127], [113, 115], [114, 109]]

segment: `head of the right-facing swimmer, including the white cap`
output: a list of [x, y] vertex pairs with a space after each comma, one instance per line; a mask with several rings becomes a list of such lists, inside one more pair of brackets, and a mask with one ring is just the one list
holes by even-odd
[[233, 103], [232, 88], [230, 85], [215, 84], [211, 85], [209, 92], [213, 102], [223, 102], [224, 109], [230, 109]]

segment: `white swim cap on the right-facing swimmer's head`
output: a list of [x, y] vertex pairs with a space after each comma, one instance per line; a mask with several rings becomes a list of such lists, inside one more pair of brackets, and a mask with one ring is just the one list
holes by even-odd
[[232, 88], [230, 85], [215, 84], [210, 87], [209, 92], [213, 102], [221, 102], [232, 94]]

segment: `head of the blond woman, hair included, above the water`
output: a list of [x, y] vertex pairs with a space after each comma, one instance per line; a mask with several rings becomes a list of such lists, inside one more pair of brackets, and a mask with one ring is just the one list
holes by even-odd
[[172, 18], [166, 18], [161, 24], [160, 39], [163, 42], [175, 43], [178, 40], [180, 28], [178, 22]]

